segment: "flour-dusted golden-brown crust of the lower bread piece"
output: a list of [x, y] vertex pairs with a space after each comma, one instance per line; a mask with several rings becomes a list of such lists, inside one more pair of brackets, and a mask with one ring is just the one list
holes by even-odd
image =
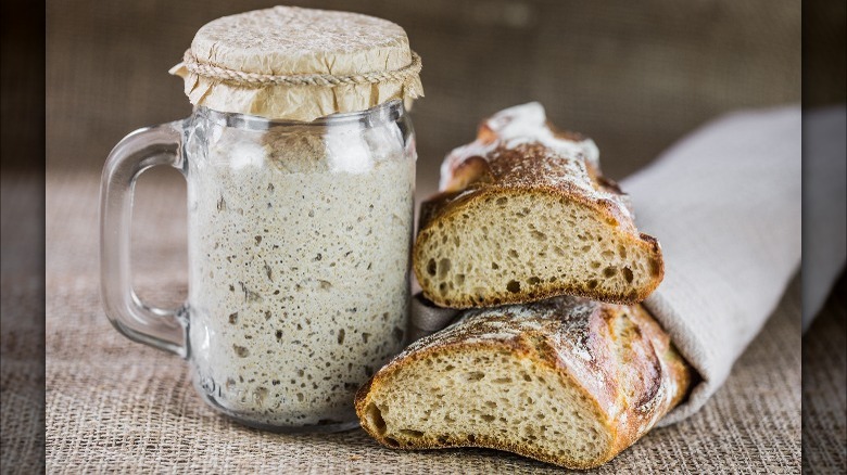
[[[417, 425], [393, 426], [382, 415], [407, 411], [392, 403], [393, 391], [415, 394], [422, 381], [406, 377], [409, 388], [396, 383], [402, 374], [429, 374], [431, 364], [444, 356], [488, 351], [529, 360], [539, 374], [555, 374], [562, 388], [584, 397], [584, 418], [603, 427], [602, 446], [589, 459], [562, 455], [541, 444], [520, 438], [517, 428], [507, 434], [486, 434], [484, 423], [455, 424], [451, 431], [432, 433], [429, 420]], [[414, 373], [417, 370], [422, 373]], [[457, 373], [480, 368], [457, 368]], [[404, 376], [405, 377], [405, 376]], [[503, 385], [519, 390], [523, 380]], [[465, 312], [450, 328], [410, 345], [378, 371], [356, 394], [362, 426], [380, 444], [400, 449], [483, 447], [506, 450], [570, 468], [598, 466], [617, 455], [650, 429], [686, 395], [691, 370], [669, 336], [640, 305], [599, 304], [576, 297], [557, 297], [523, 306]], [[562, 391], [564, 393], [564, 391]], [[444, 406], [462, 401], [444, 397]], [[551, 395], [556, 398], [557, 394]], [[562, 411], [576, 408], [565, 407]], [[414, 401], [409, 406], [415, 405]], [[586, 409], [587, 408], [587, 409]], [[507, 416], [509, 416], [507, 414]], [[388, 422], [387, 422], [388, 421]], [[564, 432], [564, 431], [562, 431]], [[414, 433], [416, 437], [404, 434]], [[554, 440], [558, 445], [578, 442]], [[598, 442], [601, 444], [601, 442]]]

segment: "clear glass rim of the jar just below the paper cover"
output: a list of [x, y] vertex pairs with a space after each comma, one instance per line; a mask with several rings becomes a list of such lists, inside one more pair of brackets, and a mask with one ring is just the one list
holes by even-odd
[[193, 115], [200, 115], [224, 127], [232, 127], [248, 130], [267, 130], [276, 127], [328, 127], [339, 125], [359, 124], [364, 127], [376, 127], [381, 124], [395, 121], [406, 114], [403, 101], [394, 99], [365, 111], [331, 114], [318, 117], [312, 121], [270, 119], [250, 114], [233, 112], [220, 112], [204, 105], [194, 107]]

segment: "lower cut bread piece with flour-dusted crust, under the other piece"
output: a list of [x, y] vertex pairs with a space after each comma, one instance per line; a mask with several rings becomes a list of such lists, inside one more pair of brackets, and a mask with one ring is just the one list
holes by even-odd
[[485, 447], [587, 468], [649, 431], [690, 381], [640, 305], [555, 297], [465, 312], [379, 370], [356, 412], [392, 448]]

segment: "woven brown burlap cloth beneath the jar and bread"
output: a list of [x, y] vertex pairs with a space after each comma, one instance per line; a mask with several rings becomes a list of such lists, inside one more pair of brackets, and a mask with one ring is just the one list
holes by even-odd
[[[137, 195], [136, 286], [142, 298], [159, 305], [175, 305], [186, 294], [185, 187], [174, 175], [142, 178]], [[556, 470], [486, 450], [393, 451], [361, 429], [268, 434], [217, 415], [194, 394], [180, 359], [127, 341], [103, 314], [98, 297], [98, 185], [93, 174], [48, 176], [48, 472]], [[700, 412], [654, 431], [596, 472], [799, 472], [799, 311], [795, 282], [726, 384]]]

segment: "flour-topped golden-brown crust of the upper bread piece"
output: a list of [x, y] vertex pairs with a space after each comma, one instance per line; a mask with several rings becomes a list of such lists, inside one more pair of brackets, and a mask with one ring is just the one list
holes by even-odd
[[[642, 301], [659, 285], [665, 274], [658, 241], [637, 231], [629, 197], [617, 183], [603, 177], [596, 156], [590, 157], [584, 152], [587, 149], [580, 149], [581, 144], [591, 142], [590, 139], [555, 130], [547, 124], [544, 127], [551, 130], [555, 140], [570, 143], [577, 152], [565, 153], [541, 141], [519, 140], [516, 144], [504, 140], [501, 133], [506, 132], [497, 127], [520, 119], [521, 114], [526, 113], [498, 115], [484, 120], [479, 127], [477, 140], [456, 149], [445, 159], [443, 192], [421, 204], [418, 235], [413, 249], [413, 268], [423, 294], [437, 305], [452, 308], [522, 304], [557, 295], [577, 295], [616, 304]], [[593, 146], [593, 142], [591, 144]], [[633, 285], [618, 293], [592, 286], [590, 282], [567, 279], [522, 286], [519, 292], [486, 288], [483, 295], [467, 292], [463, 295], [454, 291], [445, 296], [434, 288], [434, 280], [426, 277], [431, 257], [426, 249], [437, 228], [470, 214], [492, 196], [496, 200], [514, 195], [546, 196], [552, 202], [565, 200], [585, 208], [597, 221], [608, 226], [608, 233], [619, 235], [624, 246], [639, 248], [649, 256], [649, 280], [646, 284]]]

